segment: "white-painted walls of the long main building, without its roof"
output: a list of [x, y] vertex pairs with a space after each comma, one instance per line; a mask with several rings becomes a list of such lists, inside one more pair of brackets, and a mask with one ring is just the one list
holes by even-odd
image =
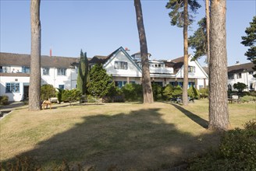
[[[9, 54], [12, 56], [12, 54]], [[16, 54], [16, 58], [19, 58], [19, 54]], [[59, 57], [58, 57], [59, 58]], [[190, 61], [192, 56], [189, 57], [189, 66], [194, 68], [194, 72], [189, 73], [189, 82], [193, 83], [197, 89], [208, 86], [208, 75], [201, 68], [201, 65], [197, 61]], [[45, 60], [52, 60], [52, 58], [44, 58]], [[54, 59], [55, 60], [55, 59]], [[70, 60], [66, 58], [59, 58], [60, 61]], [[63, 89], [75, 89], [76, 88], [76, 78], [77, 78], [77, 68], [76, 65], [69, 65], [69, 61], [66, 62], [66, 67], [51, 67], [42, 66], [41, 68], [41, 85], [50, 84], [55, 88]], [[58, 65], [57, 62], [54, 65]], [[158, 83], [159, 85], [166, 86], [168, 84], [173, 84], [183, 82], [183, 67], [179, 71], [174, 72], [174, 68], [165, 66], [165, 62], [161, 60], [149, 60], [150, 72], [151, 72], [151, 82]], [[51, 64], [48, 64], [51, 65]], [[93, 64], [91, 64], [93, 65]], [[69, 67], [67, 67], [69, 66]], [[140, 55], [134, 55], [134, 58], [128, 54], [123, 47], [119, 47], [114, 51], [103, 63], [103, 68], [105, 68], [108, 75], [112, 75], [116, 86], [123, 86], [126, 83], [133, 82], [141, 83], [141, 64]], [[24, 68], [24, 66], [18, 65], [8, 65], [5, 62], [3, 65], [0, 61], [0, 96], [9, 96], [9, 101], [20, 101], [27, 96], [26, 89], [29, 86], [29, 70], [30, 68]], [[65, 75], [59, 75], [58, 69], [66, 69]], [[12, 73], [14, 71], [14, 73]], [[20, 73], [17, 73], [17, 72]], [[5, 73], [7, 72], [7, 73]], [[22, 73], [23, 72], [23, 73]], [[27, 73], [24, 73], [27, 72]], [[19, 85], [19, 90], [16, 92], [8, 92], [6, 86], [17, 86]], [[191, 85], [189, 85], [191, 86]]]

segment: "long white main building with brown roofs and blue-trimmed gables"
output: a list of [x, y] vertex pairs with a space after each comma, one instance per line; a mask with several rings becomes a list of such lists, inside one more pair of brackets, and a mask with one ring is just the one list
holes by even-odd
[[[208, 86], [208, 75], [197, 61], [189, 56], [189, 86], [197, 89]], [[77, 64], [80, 58], [41, 56], [41, 85], [55, 88], [75, 89]], [[102, 64], [112, 75], [116, 86], [141, 82], [140, 53], [130, 55], [123, 47], [108, 56], [94, 56], [90, 67]], [[172, 60], [152, 60], [149, 55], [151, 81], [161, 86], [183, 85], [183, 57]], [[0, 96], [9, 96], [9, 101], [20, 101], [28, 96], [30, 86], [30, 54], [0, 53]]]

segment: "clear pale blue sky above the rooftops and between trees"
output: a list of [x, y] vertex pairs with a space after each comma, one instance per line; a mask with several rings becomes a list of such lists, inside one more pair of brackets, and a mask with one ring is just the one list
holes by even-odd
[[[142, 0], [148, 52], [155, 59], [183, 56], [183, 29], [170, 25], [167, 0]], [[204, 16], [204, 1], [197, 21]], [[1, 52], [30, 54], [30, 1], [0, 0]], [[247, 63], [247, 47], [240, 44], [244, 30], [256, 16], [256, 0], [228, 0], [226, 12], [227, 54], [229, 65]], [[79, 57], [108, 55], [118, 47], [130, 54], [140, 51], [133, 0], [41, 0], [41, 54]], [[189, 50], [193, 54], [193, 50]], [[199, 60], [204, 64], [204, 58]]]

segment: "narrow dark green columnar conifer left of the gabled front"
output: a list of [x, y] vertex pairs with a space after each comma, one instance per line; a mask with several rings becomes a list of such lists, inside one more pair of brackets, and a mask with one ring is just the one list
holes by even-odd
[[80, 61], [78, 65], [77, 75], [77, 89], [84, 95], [87, 90], [87, 77], [88, 77], [88, 59], [87, 53], [80, 52]]

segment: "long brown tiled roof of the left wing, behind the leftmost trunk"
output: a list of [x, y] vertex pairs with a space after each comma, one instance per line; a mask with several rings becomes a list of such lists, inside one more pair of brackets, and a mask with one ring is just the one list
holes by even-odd
[[[41, 67], [67, 68], [79, 58], [41, 56]], [[30, 54], [0, 53], [0, 65], [30, 66]]]

